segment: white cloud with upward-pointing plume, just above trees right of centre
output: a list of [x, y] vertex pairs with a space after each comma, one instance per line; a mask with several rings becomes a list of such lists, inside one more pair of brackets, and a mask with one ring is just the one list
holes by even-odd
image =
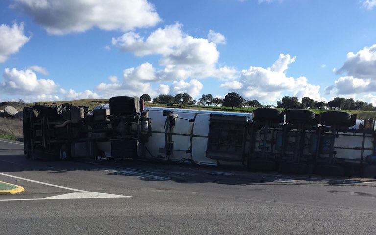
[[251, 66], [242, 70], [238, 79], [222, 83], [221, 87], [237, 90], [250, 99], [275, 101], [282, 92], [290, 92], [298, 98], [308, 96], [315, 100], [322, 100], [319, 92], [320, 86], [308, 83], [305, 77], [286, 76], [288, 65], [294, 61], [295, 57], [280, 54], [271, 67]]

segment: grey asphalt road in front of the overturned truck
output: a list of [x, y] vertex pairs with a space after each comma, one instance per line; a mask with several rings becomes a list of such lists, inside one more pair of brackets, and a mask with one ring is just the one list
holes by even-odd
[[0, 140], [0, 181], [26, 190], [0, 195], [0, 235], [376, 234], [373, 180], [26, 160]]

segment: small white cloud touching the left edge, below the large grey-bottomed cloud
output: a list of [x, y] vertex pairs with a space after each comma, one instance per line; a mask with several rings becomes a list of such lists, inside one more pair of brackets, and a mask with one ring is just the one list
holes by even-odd
[[14, 54], [30, 40], [24, 35], [24, 24], [12, 26], [0, 25], [0, 63], [5, 62], [10, 54]]

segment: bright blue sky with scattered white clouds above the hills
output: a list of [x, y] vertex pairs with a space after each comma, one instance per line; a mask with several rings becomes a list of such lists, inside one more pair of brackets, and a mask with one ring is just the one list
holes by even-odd
[[376, 104], [376, 0], [2, 0], [0, 12], [0, 101], [235, 91]]

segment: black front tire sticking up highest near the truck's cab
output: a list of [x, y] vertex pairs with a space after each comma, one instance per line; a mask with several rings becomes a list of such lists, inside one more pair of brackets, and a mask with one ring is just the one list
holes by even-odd
[[116, 96], [110, 98], [110, 115], [136, 113], [135, 98], [129, 96]]

